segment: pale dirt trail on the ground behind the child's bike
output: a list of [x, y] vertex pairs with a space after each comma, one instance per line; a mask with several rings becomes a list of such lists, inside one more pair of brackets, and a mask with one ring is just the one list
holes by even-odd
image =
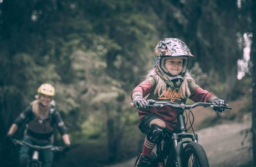
[[[196, 131], [199, 143], [208, 155], [210, 167], [240, 167], [252, 159], [249, 153], [249, 142], [245, 140], [241, 146], [244, 135], [241, 130], [251, 126], [251, 118], [243, 117], [242, 122], [230, 122]], [[108, 167], [133, 167], [135, 158], [124, 163]]]

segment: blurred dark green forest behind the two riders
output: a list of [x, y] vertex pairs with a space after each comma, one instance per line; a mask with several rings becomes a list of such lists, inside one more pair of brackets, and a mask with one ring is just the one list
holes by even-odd
[[[130, 92], [152, 68], [154, 47], [164, 38], [189, 46], [195, 56], [189, 68], [203, 89], [228, 102], [251, 95], [255, 3], [0, 0], [1, 163], [17, 166], [19, 148], [5, 143], [5, 135], [41, 83], [56, 88], [73, 144], [54, 166], [100, 167], [134, 157], [143, 137]], [[251, 112], [251, 100], [246, 105]]]

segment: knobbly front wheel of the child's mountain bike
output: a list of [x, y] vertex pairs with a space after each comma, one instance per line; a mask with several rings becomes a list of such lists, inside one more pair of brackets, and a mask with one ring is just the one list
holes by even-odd
[[195, 142], [187, 144], [182, 152], [183, 167], [209, 167], [207, 155], [202, 146]]

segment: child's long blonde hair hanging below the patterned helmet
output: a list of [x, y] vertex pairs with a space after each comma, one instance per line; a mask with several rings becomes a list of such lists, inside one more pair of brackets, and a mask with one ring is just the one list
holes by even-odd
[[[150, 69], [145, 80], [156, 74], [157, 73], [155, 71], [155, 68]], [[166, 87], [167, 83], [158, 74], [156, 75], [156, 80], [157, 85], [155, 86], [154, 94], [158, 93], [158, 96], [162, 96], [164, 92], [170, 88]], [[191, 80], [191, 82], [195, 83], [195, 79], [192, 77], [191, 73], [189, 71], [186, 71], [184, 81], [182, 82], [182, 85], [179, 88], [179, 94], [181, 95], [182, 98], [188, 98], [191, 95], [188, 80]]]

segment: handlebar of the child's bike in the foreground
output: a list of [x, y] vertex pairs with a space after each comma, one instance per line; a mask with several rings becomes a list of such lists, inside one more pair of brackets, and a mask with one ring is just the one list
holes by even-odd
[[[131, 107], [135, 107], [134, 103], [130, 103]], [[177, 104], [177, 103], [173, 103], [173, 102], [168, 102], [168, 101], [154, 101], [153, 103], [149, 103], [150, 107], [163, 107], [163, 106], [169, 106], [171, 108], [174, 109], [192, 109], [195, 108], [197, 106], [204, 106], [204, 107], [217, 107], [217, 108], [224, 108], [224, 109], [232, 109], [231, 107], [219, 107], [218, 105], [214, 105], [212, 103], [203, 103], [203, 102], [199, 102], [199, 103], [194, 103], [192, 105], [185, 105], [185, 104]]]

